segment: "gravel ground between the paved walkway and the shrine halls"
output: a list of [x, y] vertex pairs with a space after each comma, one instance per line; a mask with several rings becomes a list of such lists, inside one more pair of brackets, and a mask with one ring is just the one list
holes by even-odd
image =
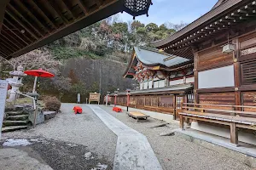
[[140, 133], [143, 133], [151, 144], [155, 155], [161, 166], [166, 170], [247, 170], [253, 169], [233, 158], [223, 155], [217, 151], [209, 150], [201, 145], [191, 143], [177, 136], [160, 136], [160, 133], [169, 132], [178, 128], [177, 123], [168, 127], [153, 127], [163, 122], [149, 118], [148, 122], [137, 122], [135, 119], [123, 113], [112, 111], [112, 107], [101, 105], [102, 109], [108, 111], [112, 116], [124, 122]]

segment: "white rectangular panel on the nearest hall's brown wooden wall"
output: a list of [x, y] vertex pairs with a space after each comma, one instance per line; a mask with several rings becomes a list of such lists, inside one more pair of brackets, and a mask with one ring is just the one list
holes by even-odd
[[224, 88], [233, 86], [235, 86], [234, 65], [198, 73], [198, 88]]

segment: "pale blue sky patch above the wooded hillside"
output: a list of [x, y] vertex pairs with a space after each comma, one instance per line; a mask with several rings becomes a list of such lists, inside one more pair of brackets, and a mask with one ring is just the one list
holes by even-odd
[[[214, 6], [218, 0], [152, 0], [153, 5], [150, 6], [147, 17], [146, 15], [137, 16], [136, 20], [143, 24], [155, 23], [157, 25], [171, 22], [179, 24], [191, 23], [194, 20], [206, 14]], [[119, 14], [119, 20], [132, 20], [130, 14]]]

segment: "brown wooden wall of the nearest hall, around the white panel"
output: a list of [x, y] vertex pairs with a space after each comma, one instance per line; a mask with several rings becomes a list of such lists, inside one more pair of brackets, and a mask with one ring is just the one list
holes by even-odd
[[[222, 45], [195, 52], [195, 103], [256, 105], [256, 31], [232, 38], [236, 51], [222, 53]], [[234, 65], [234, 87], [198, 89], [198, 73]], [[219, 75], [221, 77], [221, 75]], [[245, 111], [252, 111], [246, 108]]]

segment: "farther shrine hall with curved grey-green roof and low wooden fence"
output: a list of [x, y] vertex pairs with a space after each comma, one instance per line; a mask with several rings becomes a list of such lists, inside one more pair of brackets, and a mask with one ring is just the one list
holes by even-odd
[[[157, 48], [135, 47], [124, 77], [139, 83], [139, 89], [130, 92], [130, 107], [169, 114], [176, 119], [183, 101], [194, 100], [193, 61]], [[117, 105], [127, 105], [126, 93], [114, 95]]]

